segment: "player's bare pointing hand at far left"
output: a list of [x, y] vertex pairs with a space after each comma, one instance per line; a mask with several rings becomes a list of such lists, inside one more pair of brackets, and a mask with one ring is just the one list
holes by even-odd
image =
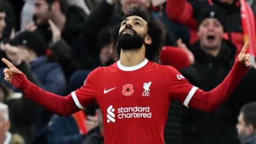
[[12, 65], [12, 63], [5, 58], [2, 58], [2, 61], [5, 63], [8, 68], [4, 69], [4, 79], [5, 81], [12, 83], [12, 79], [15, 74], [22, 74], [22, 72], [16, 68], [15, 66]]

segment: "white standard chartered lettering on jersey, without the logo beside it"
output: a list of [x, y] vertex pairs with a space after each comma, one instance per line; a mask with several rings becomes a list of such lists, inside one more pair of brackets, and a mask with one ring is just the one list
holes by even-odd
[[121, 107], [117, 109], [117, 117], [122, 118], [151, 118], [149, 107]]

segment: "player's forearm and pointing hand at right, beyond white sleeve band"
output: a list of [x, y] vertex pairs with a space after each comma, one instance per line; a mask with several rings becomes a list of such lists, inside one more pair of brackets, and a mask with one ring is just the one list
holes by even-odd
[[227, 100], [251, 66], [250, 54], [246, 54], [248, 47], [249, 42], [246, 42], [241, 53], [238, 55], [234, 67], [221, 84], [209, 92], [204, 92], [202, 90], [197, 90], [195, 92], [194, 97], [189, 102], [190, 107], [205, 111], [213, 111]]

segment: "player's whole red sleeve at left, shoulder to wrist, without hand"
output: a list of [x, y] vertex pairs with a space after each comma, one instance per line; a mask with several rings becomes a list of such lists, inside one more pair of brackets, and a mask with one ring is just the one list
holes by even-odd
[[[77, 111], [90, 105], [90, 103], [94, 100], [92, 90], [94, 89], [94, 84], [91, 82], [92, 79], [93, 77], [90, 74], [87, 77], [86, 84], [84, 86], [67, 95], [66, 97], [61, 97], [61, 95], [57, 95], [41, 89], [37, 85], [28, 81], [27, 77], [23, 73], [15, 74], [12, 84], [21, 89], [26, 98], [38, 103], [53, 113], [61, 116], [67, 116], [76, 113]], [[78, 103], [82, 103], [83, 106], [81, 105], [81, 107], [78, 105]]]

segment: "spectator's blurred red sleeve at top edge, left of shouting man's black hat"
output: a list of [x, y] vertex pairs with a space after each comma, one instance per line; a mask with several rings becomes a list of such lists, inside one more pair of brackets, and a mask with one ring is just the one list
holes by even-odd
[[166, 14], [170, 20], [179, 22], [189, 28], [196, 29], [193, 7], [186, 0], [167, 0]]

